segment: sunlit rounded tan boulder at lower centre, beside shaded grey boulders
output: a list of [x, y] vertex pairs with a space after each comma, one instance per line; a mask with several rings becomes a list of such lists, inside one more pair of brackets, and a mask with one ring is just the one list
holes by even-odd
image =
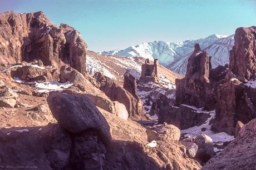
[[178, 142], [180, 129], [172, 124], [164, 124], [147, 129], [147, 141]]

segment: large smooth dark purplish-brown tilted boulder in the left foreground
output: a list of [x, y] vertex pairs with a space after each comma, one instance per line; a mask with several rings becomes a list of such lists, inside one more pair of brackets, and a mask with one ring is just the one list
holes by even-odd
[[102, 141], [111, 141], [110, 127], [95, 105], [79, 94], [52, 93], [47, 98], [48, 105], [58, 124], [71, 133], [86, 129], [96, 129]]

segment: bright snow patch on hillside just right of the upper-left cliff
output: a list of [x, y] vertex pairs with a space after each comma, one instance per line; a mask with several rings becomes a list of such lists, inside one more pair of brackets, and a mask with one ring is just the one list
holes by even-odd
[[106, 66], [101, 63], [99, 60], [96, 60], [90, 56], [86, 56], [86, 69], [89, 74], [94, 75], [96, 72], [101, 72], [104, 76], [109, 77], [111, 79], [116, 79], [116, 77], [110, 73], [109, 70], [106, 69]]

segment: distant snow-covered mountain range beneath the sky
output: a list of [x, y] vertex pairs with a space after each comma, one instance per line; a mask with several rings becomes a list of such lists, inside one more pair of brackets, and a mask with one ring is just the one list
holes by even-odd
[[195, 43], [199, 43], [201, 49], [206, 50], [210, 56], [213, 56], [211, 62], [213, 68], [215, 68], [219, 64], [224, 65], [229, 62], [229, 51], [234, 44], [234, 36], [214, 34], [206, 38], [176, 43], [154, 41], [141, 43], [122, 50], [104, 51], [101, 54], [126, 57], [140, 56], [151, 60], [159, 59], [159, 63], [163, 66], [168, 67], [172, 71], [185, 74], [188, 57], [193, 52]]

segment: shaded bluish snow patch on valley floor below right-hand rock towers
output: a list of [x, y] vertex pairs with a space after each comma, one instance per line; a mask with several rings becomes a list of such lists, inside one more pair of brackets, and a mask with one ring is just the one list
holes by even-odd
[[[188, 106], [188, 105], [184, 105]], [[189, 106], [190, 108], [196, 109], [196, 111], [201, 111], [202, 108], [196, 108], [194, 106]], [[210, 114], [210, 117], [207, 119], [207, 121], [204, 124], [201, 124], [200, 126], [194, 126], [188, 129], [181, 130], [181, 134], [185, 134], [185, 137], [196, 137], [201, 133], [204, 133], [208, 135], [211, 139], [213, 139], [213, 142], [225, 142], [225, 141], [232, 141], [234, 140], [234, 136], [229, 135], [225, 132], [215, 133], [211, 131], [211, 119], [215, 118], [215, 110], [214, 111], [203, 111], [204, 113]], [[201, 131], [202, 128], [205, 128], [205, 131]]]

